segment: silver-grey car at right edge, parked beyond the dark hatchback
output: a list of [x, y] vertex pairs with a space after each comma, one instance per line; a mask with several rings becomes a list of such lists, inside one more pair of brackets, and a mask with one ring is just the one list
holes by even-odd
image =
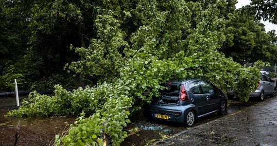
[[[276, 82], [272, 80], [267, 73], [260, 73], [260, 81], [258, 82], [258, 89], [249, 94], [249, 97], [256, 98], [263, 101], [265, 96], [276, 96]], [[227, 91], [227, 97], [232, 99], [234, 97], [233, 91]]]

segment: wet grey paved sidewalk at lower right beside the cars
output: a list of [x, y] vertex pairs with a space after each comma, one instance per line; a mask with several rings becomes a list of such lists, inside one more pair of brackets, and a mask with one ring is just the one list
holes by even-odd
[[179, 132], [153, 146], [277, 146], [277, 97]]

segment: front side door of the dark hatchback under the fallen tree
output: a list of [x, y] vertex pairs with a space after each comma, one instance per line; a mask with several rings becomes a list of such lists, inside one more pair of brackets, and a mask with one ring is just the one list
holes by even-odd
[[220, 92], [217, 92], [215, 87], [208, 81], [201, 80], [200, 82], [207, 100], [206, 112], [218, 110], [221, 99]]

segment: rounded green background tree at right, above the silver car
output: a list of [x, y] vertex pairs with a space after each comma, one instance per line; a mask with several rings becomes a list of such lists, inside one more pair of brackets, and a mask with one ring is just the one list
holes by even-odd
[[275, 62], [276, 43], [272, 32], [266, 33], [264, 25], [248, 14], [247, 8], [236, 10], [226, 24], [224, 45], [219, 49], [227, 57], [244, 65], [258, 60]]

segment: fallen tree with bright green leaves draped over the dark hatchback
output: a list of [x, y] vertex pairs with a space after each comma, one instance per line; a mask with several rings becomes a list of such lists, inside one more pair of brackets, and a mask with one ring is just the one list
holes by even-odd
[[[122, 7], [121, 2], [102, 7], [94, 25], [97, 36], [88, 47], [74, 48], [83, 59], [68, 66], [77, 73], [101, 75], [98, 85], [70, 93], [56, 86], [53, 97], [34, 93], [9, 116], [85, 112], [91, 116], [81, 113], [66, 135], [56, 135], [55, 144], [119, 146], [127, 136], [122, 129], [129, 114], [150, 103], [164, 81], [205, 78], [223, 90], [234, 88], [242, 100], [256, 89], [262, 62], [243, 68], [217, 51], [226, 39], [220, 11], [228, 4], [225, 0], [205, 7], [179, 0], [125, 1]], [[136, 26], [126, 29], [130, 23]]]

